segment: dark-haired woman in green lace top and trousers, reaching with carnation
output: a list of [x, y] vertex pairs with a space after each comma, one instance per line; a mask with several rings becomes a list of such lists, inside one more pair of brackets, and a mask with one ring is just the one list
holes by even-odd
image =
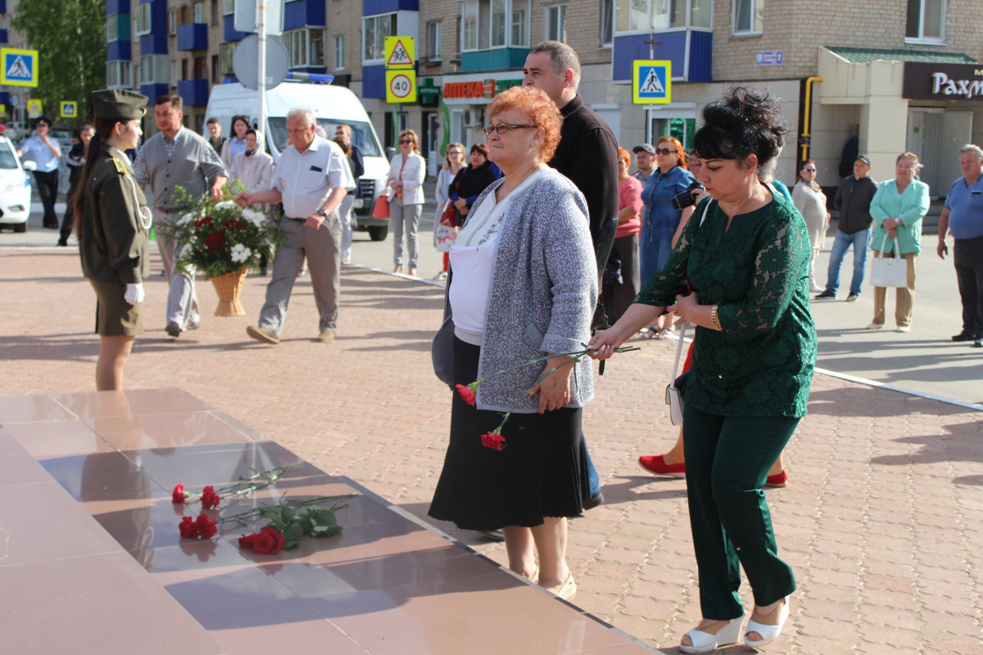
[[[703, 621], [681, 643], [710, 652], [739, 638], [738, 566], [754, 591], [751, 647], [774, 640], [795, 590], [778, 556], [762, 486], [806, 412], [816, 361], [809, 313], [811, 244], [802, 215], [768, 179], [781, 151], [780, 111], [738, 87], [706, 106], [694, 137], [710, 194], [662, 271], [613, 327], [592, 339], [607, 358], [665, 309], [696, 325], [682, 391], [686, 487]], [[689, 290], [692, 293], [687, 295]]]

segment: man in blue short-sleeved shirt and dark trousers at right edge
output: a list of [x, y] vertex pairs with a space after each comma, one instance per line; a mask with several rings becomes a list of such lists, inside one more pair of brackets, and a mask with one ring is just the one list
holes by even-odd
[[936, 252], [946, 258], [946, 232], [952, 233], [955, 280], [962, 300], [962, 332], [953, 341], [971, 341], [983, 348], [983, 149], [972, 143], [959, 148], [959, 168], [962, 177], [950, 187], [939, 219]]

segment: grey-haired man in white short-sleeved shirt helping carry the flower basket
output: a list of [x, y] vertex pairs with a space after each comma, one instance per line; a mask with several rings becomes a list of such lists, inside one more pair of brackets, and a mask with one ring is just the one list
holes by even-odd
[[336, 143], [315, 134], [317, 122], [307, 109], [287, 114], [290, 145], [273, 174], [273, 188], [240, 194], [239, 204], [283, 202], [280, 229], [286, 241], [276, 248], [273, 277], [258, 326], [246, 333], [267, 344], [280, 343], [294, 282], [308, 259], [320, 325], [318, 341], [334, 341], [341, 286], [341, 216], [338, 206], [355, 186], [345, 155]]

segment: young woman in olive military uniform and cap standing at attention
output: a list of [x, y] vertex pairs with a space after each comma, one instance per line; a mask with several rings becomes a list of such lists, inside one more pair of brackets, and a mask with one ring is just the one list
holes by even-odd
[[124, 89], [92, 92], [95, 136], [75, 196], [82, 272], [95, 290], [99, 391], [123, 387], [123, 367], [133, 340], [144, 332], [141, 303], [148, 272], [146, 245], [151, 213], [124, 154], [143, 131], [145, 95]]

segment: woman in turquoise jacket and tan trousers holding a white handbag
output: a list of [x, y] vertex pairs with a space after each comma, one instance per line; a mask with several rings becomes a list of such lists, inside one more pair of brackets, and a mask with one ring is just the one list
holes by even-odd
[[[874, 257], [881, 252], [895, 256], [895, 244], [901, 258], [907, 262], [908, 280], [897, 288], [895, 320], [898, 332], [911, 330], [911, 308], [915, 301], [915, 262], [921, 252], [921, 219], [928, 213], [928, 185], [914, 179], [918, 156], [902, 152], [895, 162], [895, 179], [881, 183], [870, 201], [874, 219], [871, 247]], [[874, 320], [868, 330], [884, 327], [884, 304], [888, 294], [885, 287], [874, 287]]]

